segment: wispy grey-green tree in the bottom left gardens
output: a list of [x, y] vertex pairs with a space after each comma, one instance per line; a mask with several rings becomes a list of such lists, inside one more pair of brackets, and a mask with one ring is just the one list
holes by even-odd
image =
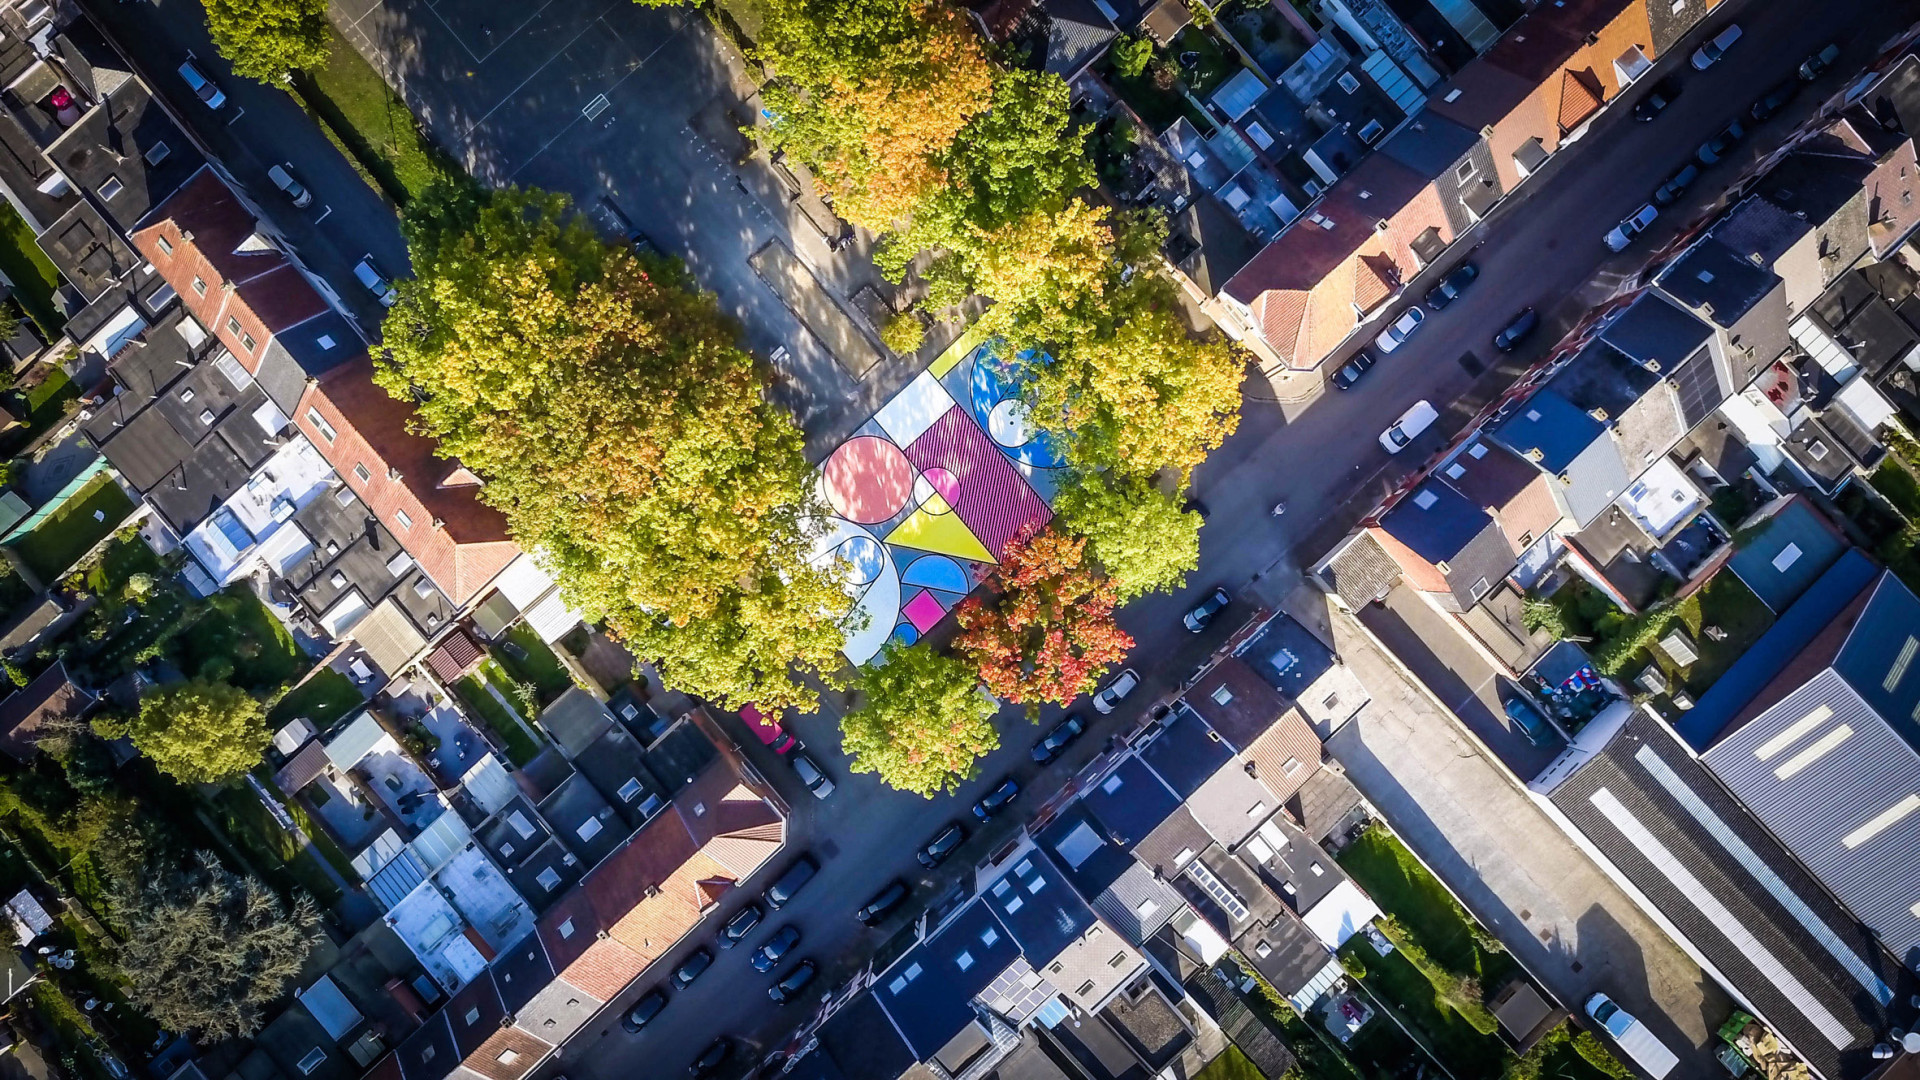
[[257, 1032], [321, 936], [311, 897], [284, 905], [207, 851], [184, 871], [117, 888], [111, 907], [127, 997], [205, 1045]]

